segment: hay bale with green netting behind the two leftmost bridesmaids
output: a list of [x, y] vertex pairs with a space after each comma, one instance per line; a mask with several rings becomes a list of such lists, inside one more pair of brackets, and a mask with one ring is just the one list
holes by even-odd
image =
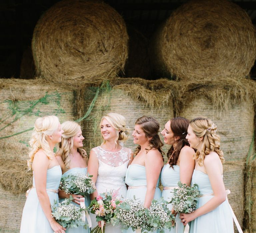
[[74, 119], [74, 93], [38, 80], [0, 79], [0, 158], [28, 159], [36, 118]]

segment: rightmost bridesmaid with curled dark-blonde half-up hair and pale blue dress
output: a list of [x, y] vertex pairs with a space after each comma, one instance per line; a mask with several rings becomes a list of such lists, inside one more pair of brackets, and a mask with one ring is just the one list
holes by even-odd
[[223, 152], [217, 126], [208, 118], [197, 117], [188, 126], [190, 147], [197, 149], [192, 183], [199, 185], [202, 196], [198, 209], [180, 214], [184, 225], [191, 222], [190, 233], [233, 233], [232, 210], [223, 183]]

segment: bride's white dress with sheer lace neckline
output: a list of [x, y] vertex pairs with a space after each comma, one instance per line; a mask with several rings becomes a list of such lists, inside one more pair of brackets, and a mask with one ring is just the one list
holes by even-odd
[[[122, 147], [117, 152], [107, 151], [100, 146], [92, 148], [99, 160], [98, 177], [96, 180], [96, 188], [98, 194], [110, 190], [118, 190], [117, 197], [125, 198], [127, 188], [125, 185], [125, 174], [132, 151]], [[96, 227], [95, 214], [90, 213], [92, 219], [92, 228]], [[106, 224], [105, 233], [121, 233], [121, 227]]]

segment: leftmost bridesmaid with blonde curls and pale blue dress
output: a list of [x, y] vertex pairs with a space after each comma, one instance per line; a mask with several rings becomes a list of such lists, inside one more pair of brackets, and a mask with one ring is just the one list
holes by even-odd
[[57, 116], [44, 116], [35, 121], [28, 160], [29, 169], [33, 169], [33, 187], [27, 191], [21, 233], [64, 233], [66, 230], [52, 218], [51, 210], [54, 200], [58, 201], [61, 179], [53, 148], [61, 141], [62, 132]]

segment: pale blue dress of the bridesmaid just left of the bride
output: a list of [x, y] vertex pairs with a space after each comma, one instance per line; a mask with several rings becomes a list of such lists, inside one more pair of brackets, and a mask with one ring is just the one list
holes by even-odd
[[[83, 174], [87, 174], [87, 167], [85, 168], [80, 168], [80, 167], [74, 167], [74, 168], [71, 168], [69, 170], [67, 170], [65, 173], [63, 173], [62, 177], [66, 177], [68, 176], [69, 174], [76, 174], [76, 173], [83, 173]], [[86, 195], [85, 197], [85, 206], [88, 207], [90, 205], [90, 196], [89, 195]], [[63, 201], [64, 199], [60, 199], [59, 201]], [[74, 203], [74, 202], [71, 202], [73, 205], [76, 205], [76, 206], [79, 206], [78, 204]], [[86, 223], [87, 220], [86, 220]], [[66, 230], [66, 233], [89, 233], [90, 232], [90, 228], [87, 227], [86, 229], [84, 229], [83, 226], [79, 226], [77, 228], [67, 228]]]

